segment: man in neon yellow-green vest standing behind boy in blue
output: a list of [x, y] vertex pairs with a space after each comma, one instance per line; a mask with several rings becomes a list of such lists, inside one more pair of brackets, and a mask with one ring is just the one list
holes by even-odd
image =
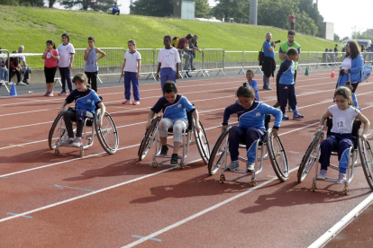
[[[298, 68], [298, 61], [300, 58], [301, 54], [301, 46], [296, 43], [296, 31], [288, 31], [287, 32], [287, 41], [284, 41], [280, 43], [280, 48], [278, 50], [278, 58], [280, 59], [280, 64], [281, 66], [282, 62], [284, 62], [287, 59], [287, 50], [292, 48], [296, 49], [298, 51], [298, 55], [296, 56], [296, 59], [294, 60], [295, 63], [295, 70]], [[296, 86], [296, 71], [294, 73], [294, 86]], [[276, 93], [277, 93], [277, 102], [273, 106], [275, 108], [280, 106], [280, 101], [279, 101], [279, 77], [276, 77]]]

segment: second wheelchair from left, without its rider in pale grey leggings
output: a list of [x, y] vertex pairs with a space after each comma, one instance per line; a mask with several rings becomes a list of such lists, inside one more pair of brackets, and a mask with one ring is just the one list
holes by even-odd
[[[151, 125], [150, 128], [146, 130], [144, 137], [141, 140], [141, 145], [139, 148], [139, 160], [143, 160], [145, 156], [148, 154], [150, 151], [150, 147], [154, 144], [155, 146], [155, 152], [153, 155], [153, 161], [152, 161], [152, 166], [157, 167], [158, 162], [157, 162], [157, 157], [162, 157], [162, 158], [170, 158], [170, 155], [159, 155], [160, 153], [160, 139], [159, 139], [159, 132], [158, 132], [158, 124], [161, 119], [161, 116], [158, 115], [157, 117], [153, 118], [151, 120]], [[208, 163], [208, 159], [210, 157], [210, 145], [208, 143], [208, 139], [205, 133], [205, 128], [202, 125], [201, 121], [199, 121], [199, 125], [201, 127], [201, 131], [198, 133], [196, 131], [195, 125], [194, 125], [194, 120], [193, 120], [193, 115], [192, 112], [187, 112], [187, 128], [182, 130], [182, 142], [180, 144], [180, 148], [183, 148], [183, 155], [179, 155], [178, 159], [180, 159], [180, 168], [184, 169], [185, 168], [185, 163], [184, 160], [187, 158], [187, 155], [189, 153], [189, 146], [190, 145], [195, 145], [198, 148], [198, 152], [202, 157], [202, 160], [205, 162], [205, 164]], [[194, 134], [195, 141], [192, 141], [192, 133]], [[168, 137], [172, 136], [172, 128], [168, 128]], [[173, 148], [174, 146], [172, 144], [167, 144], [168, 147]]]

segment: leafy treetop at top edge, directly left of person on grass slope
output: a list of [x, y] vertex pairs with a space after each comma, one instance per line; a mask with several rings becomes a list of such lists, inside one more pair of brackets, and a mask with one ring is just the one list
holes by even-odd
[[106, 12], [111, 6], [113, 6], [113, 0], [62, 0], [61, 4], [66, 9], [77, 6], [79, 10], [93, 10]]

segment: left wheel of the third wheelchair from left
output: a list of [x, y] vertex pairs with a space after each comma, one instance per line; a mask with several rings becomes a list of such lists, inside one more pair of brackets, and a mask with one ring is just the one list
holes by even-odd
[[208, 160], [209, 175], [214, 175], [214, 173], [216, 173], [220, 169], [220, 167], [222, 167], [222, 165], [225, 163], [225, 139], [228, 136], [229, 129], [230, 128], [226, 128], [216, 141], [213, 152], [211, 153], [210, 159]]

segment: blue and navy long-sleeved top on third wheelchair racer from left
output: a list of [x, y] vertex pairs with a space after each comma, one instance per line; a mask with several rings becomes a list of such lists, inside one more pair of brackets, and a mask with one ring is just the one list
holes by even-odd
[[226, 107], [223, 116], [223, 125], [228, 125], [231, 115], [235, 113], [238, 116], [239, 127], [241, 128], [266, 130], [264, 126], [266, 114], [271, 114], [275, 117], [273, 128], [279, 128], [281, 125], [282, 112], [263, 102], [254, 101], [249, 110], [245, 110], [238, 102]]

